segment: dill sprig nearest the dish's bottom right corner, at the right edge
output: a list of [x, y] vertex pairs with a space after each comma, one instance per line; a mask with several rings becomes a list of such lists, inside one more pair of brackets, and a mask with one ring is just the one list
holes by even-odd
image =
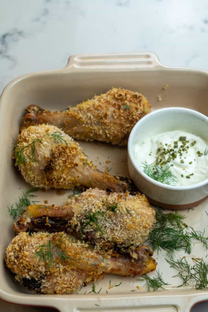
[[171, 258], [170, 260], [166, 259], [167, 263], [171, 265], [170, 267], [175, 268], [179, 271], [179, 273], [175, 276], [180, 276], [181, 279], [183, 280], [183, 283], [177, 287], [189, 285], [190, 281], [192, 281], [195, 283], [195, 288], [197, 290], [203, 288], [207, 289], [208, 264], [204, 259], [196, 259], [196, 258], [191, 259], [195, 261], [194, 265], [190, 265], [185, 257], [182, 257], [177, 260], [174, 260], [173, 258]]

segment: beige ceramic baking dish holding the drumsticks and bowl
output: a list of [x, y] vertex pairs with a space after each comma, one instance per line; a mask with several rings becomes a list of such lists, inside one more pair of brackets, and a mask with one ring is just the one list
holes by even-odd
[[[166, 90], [162, 86], [168, 84]], [[88, 294], [92, 285], [82, 288], [73, 295], [41, 295], [29, 293], [14, 282], [4, 266], [5, 248], [14, 236], [13, 220], [7, 212], [7, 206], [18, 201], [29, 185], [25, 183], [12, 161], [12, 138], [19, 131], [24, 109], [29, 104], [40, 105], [50, 110], [65, 109], [94, 94], [104, 93], [112, 86], [122, 87], [143, 93], [154, 110], [162, 107], [178, 106], [198, 110], [208, 115], [208, 73], [196, 69], [173, 68], [160, 64], [153, 53], [78, 55], [69, 58], [64, 69], [50, 72], [28, 74], [13, 80], [3, 91], [0, 99], [0, 139], [1, 139], [1, 178], [0, 178], [0, 297], [4, 300], [28, 305], [56, 307], [62, 312], [68, 311], [189, 311], [196, 302], [208, 299], [208, 292], [197, 291], [194, 286], [174, 288], [181, 280], [172, 278], [177, 271], [170, 269], [165, 255], [155, 253], [157, 269], [171, 285], [168, 291], [148, 292], [137, 277], [123, 278], [106, 275], [97, 282], [99, 294]], [[160, 96], [159, 96], [160, 95]], [[159, 99], [162, 99], [158, 101]], [[124, 125], [125, 126], [125, 125]], [[150, 125], [154, 126], [154, 125]], [[110, 173], [128, 175], [127, 149], [109, 144], [81, 143], [89, 159], [99, 169], [111, 169]], [[98, 159], [99, 158], [99, 159]], [[110, 159], [111, 163], [106, 163]], [[108, 168], [107, 168], [108, 167]], [[57, 195], [56, 191], [37, 192], [37, 200], [49, 204], [62, 204], [70, 191]], [[194, 210], [184, 211], [186, 223], [195, 230], [207, 229], [208, 201]], [[206, 230], [207, 231], [207, 230]], [[208, 233], [206, 233], [208, 235]], [[183, 256], [179, 253], [176, 256]], [[194, 243], [189, 257], [205, 257], [206, 251], [201, 243]], [[154, 272], [150, 273], [151, 276]], [[118, 285], [109, 290], [111, 285]], [[140, 286], [138, 290], [136, 286]], [[84, 292], [86, 290], [86, 294]], [[108, 294], [106, 292], [108, 291]], [[133, 290], [133, 291], [132, 291]]]

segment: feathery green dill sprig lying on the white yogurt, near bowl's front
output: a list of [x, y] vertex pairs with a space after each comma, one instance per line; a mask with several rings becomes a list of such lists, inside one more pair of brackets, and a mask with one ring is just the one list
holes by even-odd
[[155, 181], [161, 182], [163, 184], [175, 186], [177, 184], [177, 177], [169, 170], [172, 165], [167, 165], [166, 168], [160, 165], [148, 165], [143, 164], [143, 172]]

